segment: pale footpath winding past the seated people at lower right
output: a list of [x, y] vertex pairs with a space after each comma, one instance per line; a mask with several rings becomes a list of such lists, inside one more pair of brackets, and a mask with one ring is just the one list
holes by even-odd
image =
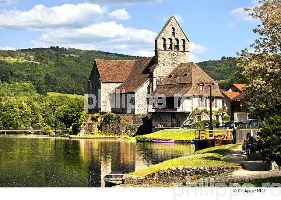
[[231, 181], [255, 180], [268, 177], [281, 176], [281, 171], [269, 171], [270, 166], [263, 161], [249, 161], [246, 155], [242, 155], [242, 145], [223, 157], [223, 161], [242, 164], [243, 169], [233, 171], [228, 177]]

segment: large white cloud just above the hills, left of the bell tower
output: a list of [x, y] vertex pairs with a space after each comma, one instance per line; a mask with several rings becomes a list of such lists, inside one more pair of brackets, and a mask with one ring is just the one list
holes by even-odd
[[146, 29], [124, 27], [116, 22], [102, 22], [77, 29], [45, 30], [33, 40], [33, 47], [64, 46], [79, 49], [99, 49], [129, 55], [151, 56], [157, 34]]

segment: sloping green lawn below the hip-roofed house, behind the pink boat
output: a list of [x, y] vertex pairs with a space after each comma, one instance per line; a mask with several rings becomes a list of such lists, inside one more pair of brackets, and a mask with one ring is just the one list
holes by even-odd
[[195, 129], [164, 129], [154, 133], [136, 136], [137, 141], [160, 140], [193, 140]]

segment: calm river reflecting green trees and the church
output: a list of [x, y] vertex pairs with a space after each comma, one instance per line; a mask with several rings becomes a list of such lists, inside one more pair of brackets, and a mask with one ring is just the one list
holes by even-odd
[[104, 187], [106, 174], [193, 152], [187, 144], [1, 135], [0, 187]]

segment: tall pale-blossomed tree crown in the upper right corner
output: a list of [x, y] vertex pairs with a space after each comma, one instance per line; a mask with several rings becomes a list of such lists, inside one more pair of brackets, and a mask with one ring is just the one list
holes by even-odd
[[269, 104], [281, 97], [281, 1], [259, 0], [254, 8], [245, 9], [260, 20], [253, 31], [260, 38], [252, 45], [254, 52], [244, 49], [237, 69], [240, 80], [247, 83], [251, 103]]

